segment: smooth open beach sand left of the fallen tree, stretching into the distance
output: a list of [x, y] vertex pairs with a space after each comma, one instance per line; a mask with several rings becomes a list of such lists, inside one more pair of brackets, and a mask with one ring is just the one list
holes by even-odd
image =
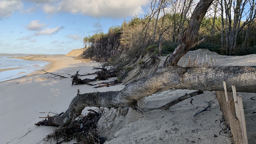
[[[49, 56], [38, 57], [34, 60], [51, 61], [44, 69], [58, 75], [70, 77], [76, 71], [80, 73], [93, 73], [93, 67], [100, 63], [90, 61], [82, 63], [74, 57]], [[94, 92], [95, 90], [119, 90], [119, 86], [110, 88], [91, 88], [88, 85], [71, 85], [71, 79], [49, 79], [52, 76], [37, 71], [28, 76], [0, 82], [0, 139], [2, 144], [33, 144], [40, 142], [46, 135], [53, 132], [54, 127], [37, 127], [34, 123], [53, 113], [67, 110], [70, 101], [77, 94]], [[94, 76], [87, 76], [93, 78]], [[42, 113], [45, 112], [45, 113]]]

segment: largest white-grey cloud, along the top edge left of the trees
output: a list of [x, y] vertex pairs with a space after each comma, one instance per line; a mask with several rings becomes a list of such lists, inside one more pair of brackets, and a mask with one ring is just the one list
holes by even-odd
[[54, 5], [46, 4], [46, 13], [58, 11], [82, 14], [93, 17], [126, 17], [144, 14], [142, 6], [150, 0], [61, 0]]

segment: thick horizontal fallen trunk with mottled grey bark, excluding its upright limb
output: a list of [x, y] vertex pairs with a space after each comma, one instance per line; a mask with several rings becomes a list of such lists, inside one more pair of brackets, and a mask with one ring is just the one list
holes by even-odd
[[237, 92], [256, 93], [256, 66], [162, 68], [153, 75], [129, 83], [121, 91], [77, 94], [63, 115], [49, 118], [45, 125], [66, 125], [87, 106], [136, 108], [142, 97], [169, 89], [221, 91], [222, 81], [226, 81], [228, 91], [231, 91], [231, 85], [236, 85]]

